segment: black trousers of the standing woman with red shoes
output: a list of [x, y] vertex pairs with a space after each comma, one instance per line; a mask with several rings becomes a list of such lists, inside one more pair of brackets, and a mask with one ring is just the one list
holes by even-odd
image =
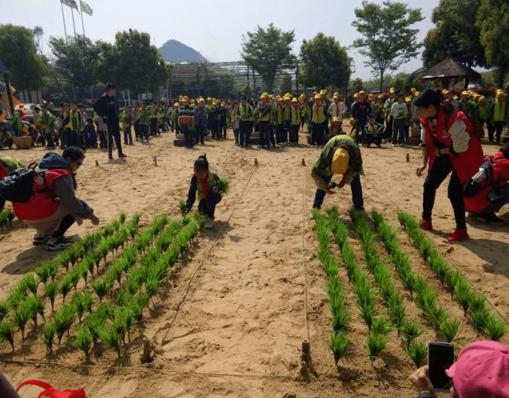
[[431, 220], [431, 212], [435, 204], [436, 190], [445, 178], [451, 174], [449, 180], [449, 187], [447, 189], [447, 196], [453, 206], [454, 218], [456, 220], [456, 228], [466, 228], [465, 222], [465, 204], [463, 201], [463, 187], [460, 179], [457, 178], [453, 170], [453, 165], [449, 159], [449, 155], [442, 155], [435, 159], [433, 167], [428, 173], [424, 183], [424, 194], [422, 196], [422, 218]]

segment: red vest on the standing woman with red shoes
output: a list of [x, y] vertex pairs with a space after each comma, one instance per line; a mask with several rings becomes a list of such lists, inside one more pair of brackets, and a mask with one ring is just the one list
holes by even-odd
[[[431, 135], [429, 130], [428, 120], [426, 118], [421, 118], [420, 122], [422, 127], [425, 128], [426, 133], [426, 148], [429, 156], [429, 169], [433, 167], [433, 163], [436, 159], [435, 147], [434, 143], [436, 140], [442, 142], [446, 148], [453, 148], [453, 140], [449, 135], [449, 129], [457, 120], [463, 120], [466, 124], [466, 131], [472, 132], [473, 126], [471, 122], [468, 120], [468, 117], [461, 111], [450, 115], [446, 120], [446, 114], [442, 111], [442, 106], [440, 106], [440, 111], [438, 113], [438, 119], [435, 126], [435, 134], [436, 136]], [[460, 154], [449, 154], [449, 159], [451, 159], [451, 163], [453, 164], [453, 169], [456, 172], [458, 178], [460, 178], [460, 183], [464, 184], [468, 181], [468, 178], [471, 178], [480, 165], [484, 162], [484, 154], [482, 153], [481, 143], [475, 136], [471, 135], [470, 141], [468, 142], [468, 149], [465, 152]]]

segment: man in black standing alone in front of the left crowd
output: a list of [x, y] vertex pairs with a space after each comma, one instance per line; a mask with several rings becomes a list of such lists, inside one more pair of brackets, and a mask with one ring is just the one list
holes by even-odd
[[112, 83], [106, 84], [106, 93], [100, 96], [99, 100], [93, 104], [93, 110], [102, 117], [102, 120], [108, 126], [108, 159], [113, 160], [112, 145], [113, 139], [115, 139], [115, 145], [117, 145], [118, 157], [125, 158], [126, 155], [122, 153], [122, 143], [120, 141], [120, 127], [118, 125], [118, 103], [117, 97], [115, 97], [115, 85]]

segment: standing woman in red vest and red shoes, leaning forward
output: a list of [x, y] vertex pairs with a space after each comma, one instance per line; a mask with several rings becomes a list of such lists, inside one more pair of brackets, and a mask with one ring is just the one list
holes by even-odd
[[481, 143], [472, 136], [473, 126], [461, 111], [453, 110], [444, 101], [442, 93], [428, 89], [414, 101], [422, 124], [422, 165], [416, 173], [424, 172], [429, 164], [424, 183], [422, 204], [422, 229], [433, 229], [431, 212], [435, 203], [436, 190], [449, 174], [448, 196], [453, 206], [456, 229], [449, 236], [449, 242], [460, 242], [468, 237], [466, 233], [465, 204], [463, 187], [484, 161]]

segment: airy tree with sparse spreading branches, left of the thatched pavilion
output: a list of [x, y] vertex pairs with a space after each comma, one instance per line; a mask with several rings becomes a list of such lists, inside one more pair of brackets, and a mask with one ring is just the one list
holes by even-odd
[[384, 76], [417, 56], [422, 43], [417, 43], [418, 30], [410, 27], [424, 18], [420, 8], [411, 9], [405, 3], [386, 0], [379, 5], [363, 0], [362, 5], [355, 9], [357, 19], [352, 22], [362, 38], [353, 45], [368, 58], [364, 64], [379, 76], [382, 91]]

